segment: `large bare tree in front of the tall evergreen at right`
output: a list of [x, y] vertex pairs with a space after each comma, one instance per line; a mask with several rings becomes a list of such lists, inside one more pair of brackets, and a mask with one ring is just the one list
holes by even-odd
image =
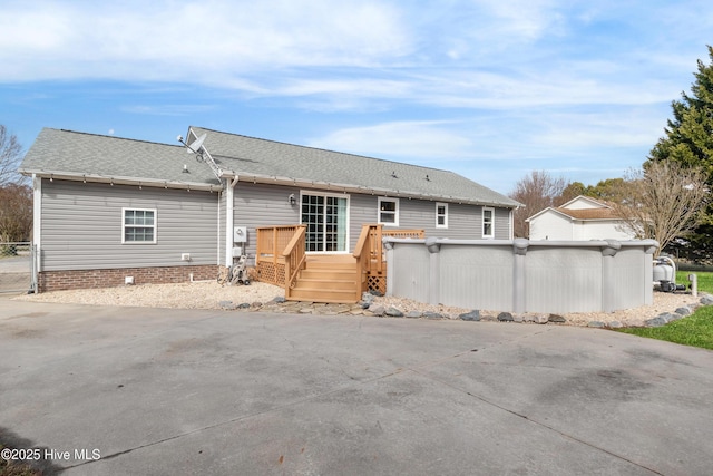
[[705, 218], [706, 178], [703, 168], [673, 161], [648, 162], [643, 171], [629, 171], [625, 176], [628, 197], [615, 207], [623, 227], [637, 239], [656, 240], [663, 250]]

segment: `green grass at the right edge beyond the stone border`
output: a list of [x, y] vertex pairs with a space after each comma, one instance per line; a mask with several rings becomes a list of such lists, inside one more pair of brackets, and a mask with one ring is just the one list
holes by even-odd
[[[688, 271], [676, 272], [676, 283], [687, 285], [688, 274], [691, 274]], [[696, 272], [695, 274], [699, 292], [713, 294], [713, 273]], [[713, 350], [713, 305], [699, 308], [692, 315], [668, 322], [660, 328], [626, 328], [617, 331]]]

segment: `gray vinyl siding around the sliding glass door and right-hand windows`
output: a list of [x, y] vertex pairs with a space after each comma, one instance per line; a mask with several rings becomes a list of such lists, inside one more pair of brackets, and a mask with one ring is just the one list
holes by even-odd
[[[300, 193], [309, 190], [285, 185], [267, 185], [240, 182], [235, 186], [235, 226], [247, 226], [247, 255], [255, 255], [255, 229], [272, 225], [294, 225], [300, 223]], [[342, 195], [334, 191], [312, 191], [315, 194]], [[290, 205], [289, 196], [295, 195], [297, 204]], [[379, 220], [377, 195], [345, 194], [349, 197], [349, 251], [354, 249], [361, 226]], [[495, 208], [495, 237], [508, 240], [509, 210]], [[222, 218], [224, 222], [224, 218]], [[449, 239], [481, 239], [482, 207], [450, 203], [448, 205], [448, 229], [436, 227], [436, 202], [399, 198], [398, 229], [423, 229], [427, 236]], [[224, 236], [224, 234], [223, 234]]]

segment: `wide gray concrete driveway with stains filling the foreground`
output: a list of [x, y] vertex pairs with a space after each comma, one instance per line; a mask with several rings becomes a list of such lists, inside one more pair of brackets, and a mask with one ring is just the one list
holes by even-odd
[[62, 475], [710, 475], [713, 462], [713, 352], [605, 330], [6, 298], [0, 354], [2, 439]]

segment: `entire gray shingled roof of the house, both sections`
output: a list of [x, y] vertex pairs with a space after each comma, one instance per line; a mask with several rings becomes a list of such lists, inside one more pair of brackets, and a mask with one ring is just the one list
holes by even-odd
[[[516, 207], [518, 202], [461, 175], [314, 147], [192, 127], [224, 176], [351, 193]], [[191, 140], [188, 140], [191, 143]], [[184, 164], [188, 173], [184, 173]], [[219, 188], [205, 162], [179, 145], [42, 129], [20, 166], [23, 174], [172, 187]]]

